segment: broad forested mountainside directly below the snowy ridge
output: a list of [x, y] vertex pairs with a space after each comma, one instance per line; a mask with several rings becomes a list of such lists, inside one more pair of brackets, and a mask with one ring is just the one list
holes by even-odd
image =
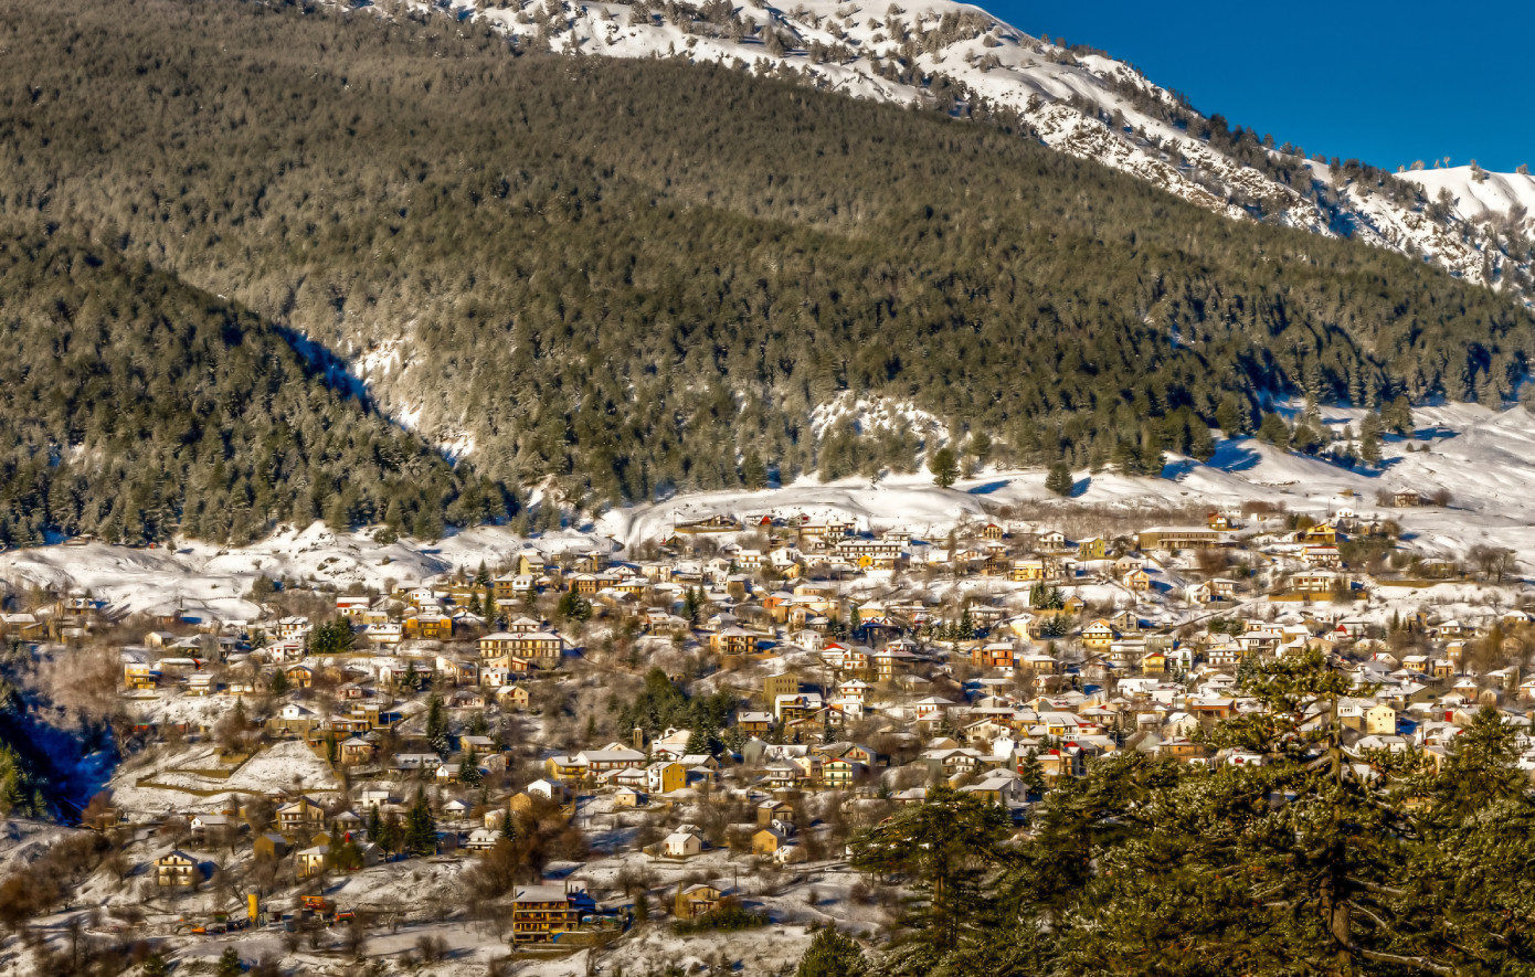
[[[748, 456], [784, 475], [913, 465], [900, 433], [810, 436], [841, 391], [984, 428], [1007, 457], [1087, 463], [1251, 423], [1269, 391], [1498, 399], [1535, 344], [1506, 298], [1214, 216], [1005, 117], [238, 0], [21, 0], [0, 46], [0, 213], [324, 344], [505, 483], [619, 500], [738, 483]], [[81, 443], [129, 440], [71, 416]], [[132, 457], [190, 463], [158, 420], [140, 434]], [[318, 508], [335, 477], [318, 460], [256, 479], [270, 466], [226, 454], [253, 506]], [[97, 457], [138, 479], [123, 518], [173, 509], [127, 457]], [[411, 457], [439, 474], [402, 509], [453, 494]], [[190, 506], [187, 528], [204, 518]]]

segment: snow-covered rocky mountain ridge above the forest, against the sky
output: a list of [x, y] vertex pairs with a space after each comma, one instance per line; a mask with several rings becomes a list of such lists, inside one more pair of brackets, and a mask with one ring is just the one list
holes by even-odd
[[[376, 8], [422, 12], [421, 0]], [[1535, 178], [1474, 167], [1400, 175], [1305, 160], [1205, 118], [1131, 66], [1064, 49], [950, 0], [437, 0], [464, 23], [573, 57], [675, 57], [956, 115], [1016, 113], [1045, 144], [1233, 219], [1263, 219], [1421, 255], [1467, 281], [1535, 296]], [[1441, 192], [1448, 196], [1441, 198]]]

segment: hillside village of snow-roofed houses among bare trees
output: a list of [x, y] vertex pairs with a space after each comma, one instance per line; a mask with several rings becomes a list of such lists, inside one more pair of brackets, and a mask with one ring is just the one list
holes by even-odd
[[[384, 592], [261, 577], [243, 621], [12, 592], [12, 653], [106, 663], [80, 673], [111, 679], [124, 759], [80, 811], [84, 857], [52, 897], [0, 890], [0, 919], [97, 906], [144, 952], [307, 966], [559, 962], [663, 923], [878, 940], [893, 903], [847, 867], [857, 831], [947, 785], [1027, 842], [1055, 785], [1117, 752], [1263, 764], [1207, 733], [1260, 709], [1260, 663], [1308, 653], [1355, 690], [1312, 710], [1357, 762], [1441, 761], [1490, 706], [1535, 770], [1512, 554], [1400, 546], [1400, 511], [1446, 502], [1101, 535], [1004, 508], [941, 538], [721, 511]], [[772, 952], [738, 960], [792, 962]]]

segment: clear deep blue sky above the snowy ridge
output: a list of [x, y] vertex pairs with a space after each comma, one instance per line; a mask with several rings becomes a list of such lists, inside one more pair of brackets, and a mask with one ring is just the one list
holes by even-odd
[[[976, 3], [978, 0], [970, 0]], [[1394, 170], [1535, 166], [1535, 3], [979, 0], [1133, 63], [1203, 113]]]

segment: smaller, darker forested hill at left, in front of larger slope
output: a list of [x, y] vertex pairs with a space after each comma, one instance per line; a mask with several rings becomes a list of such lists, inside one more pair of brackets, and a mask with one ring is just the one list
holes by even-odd
[[445, 509], [505, 514], [270, 324], [103, 248], [0, 236], [0, 541], [250, 540], [322, 517], [430, 535]]

